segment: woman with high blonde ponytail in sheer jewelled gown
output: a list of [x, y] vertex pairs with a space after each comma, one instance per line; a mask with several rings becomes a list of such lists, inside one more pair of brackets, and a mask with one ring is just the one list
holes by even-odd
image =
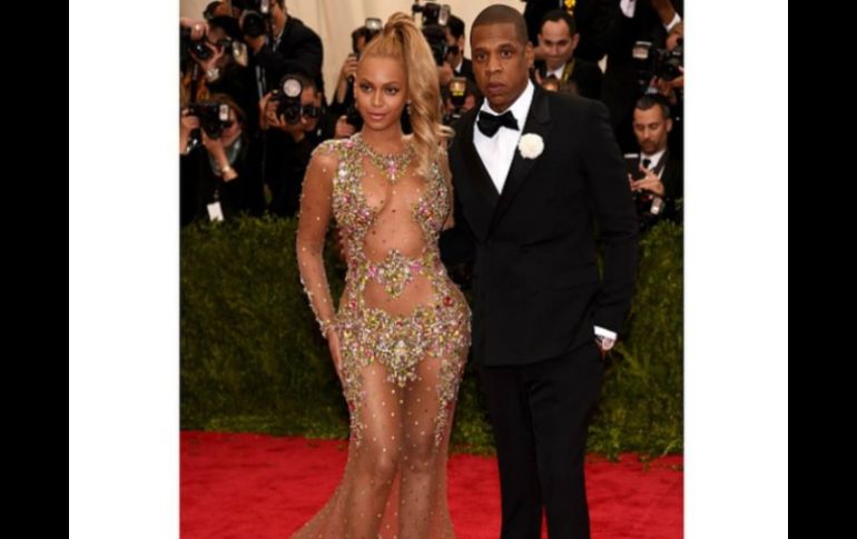
[[[439, 234], [452, 226], [450, 133], [434, 59], [406, 14], [366, 47], [354, 93], [363, 128], [316, 149], [297, 231], [301, 278], [348, 402], [348, 462], [295, 537], [454, 537], [446, 453], [471, 312], [440, 260]], [[322, 259], [331, 217], [348, 261], [338, 312]]]

